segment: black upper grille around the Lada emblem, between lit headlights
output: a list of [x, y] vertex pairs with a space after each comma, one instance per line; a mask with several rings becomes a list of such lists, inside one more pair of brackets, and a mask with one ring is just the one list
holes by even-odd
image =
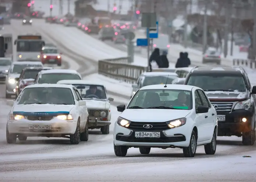
[[[152, 128], [144, 128], [143, 125], [150, 124], [152, 125]], [[129, 127], [132, 130], [136, 131], [161, 131], [161, 130], [169, 130], [170, 128], [166, 124], [166, 122], [131, 122]]]

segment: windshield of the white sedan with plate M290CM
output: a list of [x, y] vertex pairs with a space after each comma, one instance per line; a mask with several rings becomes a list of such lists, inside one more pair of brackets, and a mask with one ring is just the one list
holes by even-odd
[[25, 88], [17, 99], [18, 104], [74, 105], [70, 88]]

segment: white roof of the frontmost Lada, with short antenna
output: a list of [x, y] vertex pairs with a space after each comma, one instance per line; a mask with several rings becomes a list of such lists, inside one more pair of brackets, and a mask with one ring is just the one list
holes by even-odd
[[[165, 90], [189, 90], [191, 91], [192, 88], [194, 88], [195, 86], [193, 85], [175, 85], [175, 84], [167, 84], [167, 87], [164, 87], [164, 84], [159, 84], [159, 85], [148, 85], [145, 87], [142, 87], [140, 90], [161, 90], [161, 89], [165, 89]], [[195, 87], [196, 89], [200, 89], [199, 87]]]

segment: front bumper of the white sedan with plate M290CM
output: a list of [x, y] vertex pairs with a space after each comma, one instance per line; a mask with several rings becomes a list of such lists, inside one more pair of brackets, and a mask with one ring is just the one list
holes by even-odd
[[47, 136], [74, 134], [77, 128], [77, 120], [61, 120], [53, 116], [49, 121], [42, 120], [8, 120], [8, 132], [10, 134], [24, 134], [27, 136]]

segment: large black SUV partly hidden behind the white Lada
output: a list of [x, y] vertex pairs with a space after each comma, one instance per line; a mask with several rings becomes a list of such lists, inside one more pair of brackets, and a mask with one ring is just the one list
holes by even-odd
[[243, 145], [254, 144], [256, 86], [251, 86], [243, 68], [197, 67], [184, 84], [207, 94], [217, 112], [218, 136], [242, 136]]

